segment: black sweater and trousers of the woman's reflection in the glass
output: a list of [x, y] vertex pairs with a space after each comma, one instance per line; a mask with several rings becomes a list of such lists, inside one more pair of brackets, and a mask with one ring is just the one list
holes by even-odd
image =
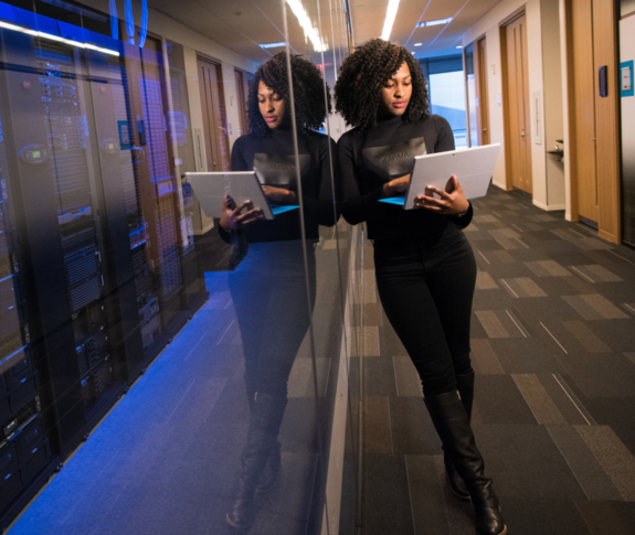
[[[298, 136], [310, 303], [315, 303], [316, 266], [314, 244], [319, 225], [332, 226], [332, 181], [327, 136], [305, 130]], [[242, 136], [232, 149], [232, 170], [255, 169], [263, 184], [297, 192], [292, 130], [276, 128], [271, 136]], [[309, 328], [299, 210], [255, 221], [223, 239], [235, 238], [234, 250], [244, 259], [230, 274], [232, 301], [243, 342], [245, 387], [286, 397], [287, 381]], [[250, 396], [250, 394], [247, 394]]]

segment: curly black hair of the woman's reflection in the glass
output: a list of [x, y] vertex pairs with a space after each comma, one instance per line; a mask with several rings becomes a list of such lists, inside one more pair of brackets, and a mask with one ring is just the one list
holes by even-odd
[[[324, 81], [319, 68], [310, 61], [295, 54], [290, 55], [290, 62], [298, 132], [303, 133], [305, 129], [318, 130], [324, 124], [327, 113], [331, 110], [330, 90], [327, 86], [327, 103], [325, 104]], [[285, 100], [287, 113], [290, 114], [287, 55], [285, 52], [278, 52], [260, 66], [251, 83], [247, 98], [250, 130], [256, 136], [271, 136], [271, 128], [263, 119], [258, 108], [257, 95], [261, 81]]]

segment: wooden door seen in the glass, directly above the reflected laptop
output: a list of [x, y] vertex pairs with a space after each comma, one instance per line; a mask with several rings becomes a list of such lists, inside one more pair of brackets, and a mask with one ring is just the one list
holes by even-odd
[[199, 57], [199, 86], [205, 130], [208, 171], [230, 170], [230, 140], [221, 65]]

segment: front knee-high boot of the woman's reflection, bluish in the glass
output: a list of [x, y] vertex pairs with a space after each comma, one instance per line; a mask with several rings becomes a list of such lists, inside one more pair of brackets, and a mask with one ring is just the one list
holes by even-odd
[[227, 523], [247, 529], [254, 521], [254, 495], [267, 460], [275, 451], [287, 399], [258, 393], [254, 400], [247, 442], [242, 454], [236, 496]]

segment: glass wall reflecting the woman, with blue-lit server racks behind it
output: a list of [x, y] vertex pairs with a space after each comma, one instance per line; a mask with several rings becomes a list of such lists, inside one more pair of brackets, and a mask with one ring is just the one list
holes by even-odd
[[0, 528], [352, 533], [348, 28], [340, 0], [0, 3]]

